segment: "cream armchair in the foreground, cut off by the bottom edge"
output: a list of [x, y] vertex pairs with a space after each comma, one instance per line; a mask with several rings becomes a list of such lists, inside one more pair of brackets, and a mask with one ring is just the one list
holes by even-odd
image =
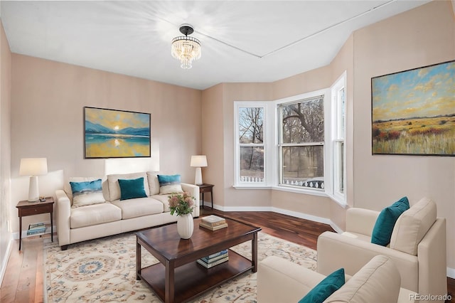
[[[257, 269], [257, 302], [299, 302], [326, 276], [301, 265], [269, 256]], [[324, 302], [415, 302], [417, 294], [400, 288], [400, 273], [390, 257], [376, 256]]]

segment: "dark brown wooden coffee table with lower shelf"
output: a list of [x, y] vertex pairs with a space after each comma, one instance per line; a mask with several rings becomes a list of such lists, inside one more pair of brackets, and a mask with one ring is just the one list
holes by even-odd
[[[257, 233], [261, 228], [226, 219], [227, 228], [211, 231], [199, 227], [188, 240], [178, 236], [177, 225], [136, 233], [136, 279], [144, 280], [164, 302], [186, 302], [248, 270], [257, 271]], [[196, 260], [240, 243], [251, 241], [252, 260], [229, 250], [229, 261], [206, 269]], [[141, 247], [159, 263], [141, 267]]]

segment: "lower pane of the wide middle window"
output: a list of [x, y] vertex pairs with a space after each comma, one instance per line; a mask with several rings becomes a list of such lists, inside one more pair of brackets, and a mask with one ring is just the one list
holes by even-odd
[[282, 147], [282, 184], [324, 187], [323, 146]]

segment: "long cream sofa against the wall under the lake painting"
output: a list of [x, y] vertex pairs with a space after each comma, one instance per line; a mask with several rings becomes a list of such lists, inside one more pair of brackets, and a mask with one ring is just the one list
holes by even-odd
[[[169, 210], [169, 195], [160, 194], [157, 174], [148, 171], [108, 175], [101, 178], [105, 202], [77, 208], [72, 207], [73, 192], [70, 181], [93, 181], [100, 178], [70, 178], [63, 190], [55, 191], [58, 245], [62, 250], [66, 250], [68, 245], [73, 243], [176, 222], [177, 216], [171, 216]], [[147, 197], [121, 201], [118, 179], [140, 177], [144, 178]], [[181, 188], [196, 198], [193, 217], [198, 217], [199, 187], [181, 183]]]

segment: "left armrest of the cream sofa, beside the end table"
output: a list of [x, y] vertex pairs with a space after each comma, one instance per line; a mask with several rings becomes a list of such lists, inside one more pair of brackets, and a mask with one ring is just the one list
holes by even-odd
[[64, 246], [70, 244], [71, 203], [70, 198], [61, 189], [55, 191], [55, 196], [57, 197], [55, 206], [57, 211], [58, 245]]

